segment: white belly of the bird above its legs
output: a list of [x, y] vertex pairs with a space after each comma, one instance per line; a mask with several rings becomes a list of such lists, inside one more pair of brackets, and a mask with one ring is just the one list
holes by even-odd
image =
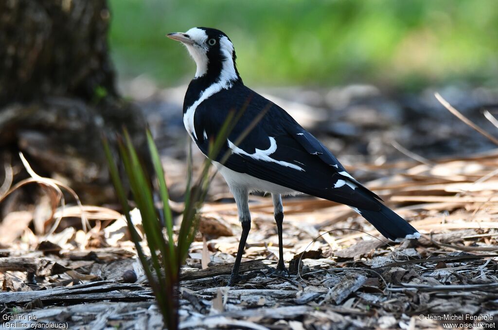
[[213, 165], [218, 168], [218, 171], [223, 175], [225, 180], [228, 183], [230, 189], [233, 188], [242, 188], [250, 191], [263, 191], [263, 192], [271, 192], [276, 194], [283, 195], [294, 195], [299, 193], [295, 190], [292, 190], [287, 187], [283, 187], [281, 185], [271, 183], [269, 181], [258, 179], [254, 176], [250, 176], [249, 174], [236, 172], [224, 165], [221, 165], [218, 162], [213, 162]]

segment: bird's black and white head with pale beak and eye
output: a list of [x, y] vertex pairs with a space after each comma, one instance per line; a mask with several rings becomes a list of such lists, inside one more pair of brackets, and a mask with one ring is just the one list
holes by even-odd
[[197, 64], [195, 78], [209, 75], [218, 81], [239, 80], [235, 49], [229, 37], [220, 30], [193, 27], [186, 32], [169, 33], [168, 38], [183, 43]]

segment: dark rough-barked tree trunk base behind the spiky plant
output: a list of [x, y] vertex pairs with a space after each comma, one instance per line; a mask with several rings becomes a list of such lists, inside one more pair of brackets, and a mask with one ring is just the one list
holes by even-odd
[[86, 202], [112, 196], [101, 134], [126, 126], [144, 143], [142, 114], [116, 91], [110, 19], [105, 0], [0, 1], [0, 150]]

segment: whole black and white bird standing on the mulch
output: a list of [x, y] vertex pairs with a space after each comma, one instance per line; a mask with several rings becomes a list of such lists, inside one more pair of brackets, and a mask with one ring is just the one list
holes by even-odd
[[[237, 283], [250, 230], [248, 195], [271, 193], [278, 231], [275, 272], [287, 275], [282, 250], [282, 194], [306, 193], [343, 203], [361, 214], [386, 238], [419, 238], [418, 231], [394, 213], [372, 191], [353, 178], [334, 155], [285, 110], [244, 85], [235, 64], [234, 45], [220, 30], [194, 27], [170, 33], [182, 42], [197, 64], [183, 103], [183, 122], [199, 149], [208, 156], [233, 110], [241, 111], [220, 156], [211, 161], [227, 181], [237, 203], [242, 236], [229, 285]], [[260, 120], [250, 130], [258, 115]], [[243, 133], [249, 133], [238, 142]], [[223, 155], [230, 157], [223, 164]]]

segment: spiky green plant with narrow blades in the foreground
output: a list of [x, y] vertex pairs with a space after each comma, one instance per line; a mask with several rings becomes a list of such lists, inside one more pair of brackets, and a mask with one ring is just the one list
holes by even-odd
[[[229, 116], [223, 126], [219, 137], [210, 144], [209, 159], [216, 159], [223, 141], [233, 124], [233, 114]], [[158, 210], [154, 204], [152, 179], [144, 169], [138, 154], [133, 147], [131, 139], [124, 131], [124, 139], [118, 138], [118, 151], [124, 167], [125, 175], [129, 181], [133, 201], [140, 211], [145, 238], [150, 250], [150, 264], [141, 248], [138, 236], [129, 215], [130, 207], [126, 192], [119, 175], [109, 142], [103, 139], [104, 150], [111, 178], [116, 189], [116, 194], [123, 207], [131, 238], [135, 244], [138, 258], [143, 266], [147, 279], [154, 292], [157, 305], [163, 315], [164, 325], [170, 330], [178, 328], [178, 284], [180, 267], [185, 262], [189, 247], [195, 238], [198, 228], [198, 210], [206, 198], [209, 188], [209, 168], [211, 162], [206, 159], [199, 179], [192, 184], [192, 166], [189, 166], [187, 176], [187, 190], [185, 192], [185, 209], [176, 244], [173, 237], [173, 216], [169, 207], [169, 195], [166, 186], [164, 171], [159, 158], [159, 153], [149, 131], [146, 132], [148, 150], [157, 180], [159, 194], [163, 206], [164, 225], [159, 221]], [[225, 137], [225, 139], [224, 139]], [[189, 162], [191, 164], [191, 162]]]

